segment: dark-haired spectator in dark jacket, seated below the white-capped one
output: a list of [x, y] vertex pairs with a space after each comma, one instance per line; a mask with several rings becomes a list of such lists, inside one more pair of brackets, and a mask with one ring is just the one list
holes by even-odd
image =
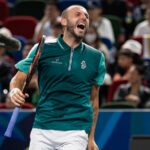
[[144, 67], [134, 65], [129, 70], [129, 83], [120, 85], [115, 93], [114, 100], [128, 101], [138, 108], [147, 107], [150, 102], [150, 89], [142, 85]]

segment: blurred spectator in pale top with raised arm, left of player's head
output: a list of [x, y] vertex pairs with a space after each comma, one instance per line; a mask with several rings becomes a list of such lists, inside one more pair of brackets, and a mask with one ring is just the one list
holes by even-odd
[[44, 10], [44, 16], [37, 24], [34, 33], [34, 41], [38, 41], [42, 35], [50, 36], [53, 34], [52, 24], [60, 16], [59, 7], [56, 1], [49, 1]]

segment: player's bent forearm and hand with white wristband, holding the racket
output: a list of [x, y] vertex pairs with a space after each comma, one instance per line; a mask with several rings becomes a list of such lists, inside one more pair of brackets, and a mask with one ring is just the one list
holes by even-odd
[[27, 75], [21, 71], [18, 71], [16, 75], [12, 78], [10, 82], [10, 93], [9, 97], [11, 102], [15, 106], [21, 106], [25, 102], [25, 98], [28, 97], [28, 94], [22, 93], [22, 88], [26, 81]]

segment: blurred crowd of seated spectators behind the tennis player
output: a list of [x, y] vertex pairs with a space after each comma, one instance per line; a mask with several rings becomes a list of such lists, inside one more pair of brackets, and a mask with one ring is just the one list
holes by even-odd
[[[8, 103], [8, 93], [9, 82], [17, 71], [15, 63], [28, 55], [43, 34], [47, 36], [46, 41], [50, 41], [62, 33], [60, 14], [71, 4], [87, 8], [90, 27], [84, 42], [105, 55], [107, 73], [99, 92], [99, 106], [150, 108], [149, 0], [83, 0], [82, 3], [41, 0], [39, 6], [44, 6], [38, 7], [39, 10], [31, 6], [23, 9], [31, 5], [27, 0], [0, 0], [0, 7], [1, 3], [7, 13], [0, 12], [3, 14], [0, 15], [0, 108], [13, 107]], [[28, 27], [30, 21], [32, 25]], [[34, 108], [38, 104], [37, 78], [35, 73], [23, 108]]]

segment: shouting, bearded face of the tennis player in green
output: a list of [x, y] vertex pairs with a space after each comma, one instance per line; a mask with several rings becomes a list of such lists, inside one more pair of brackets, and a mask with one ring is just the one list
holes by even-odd
[[73, 7], [68, 10], [65, 29], [77, 38], [83, 38], [89, 27], [89, 15], [82, 7]]

